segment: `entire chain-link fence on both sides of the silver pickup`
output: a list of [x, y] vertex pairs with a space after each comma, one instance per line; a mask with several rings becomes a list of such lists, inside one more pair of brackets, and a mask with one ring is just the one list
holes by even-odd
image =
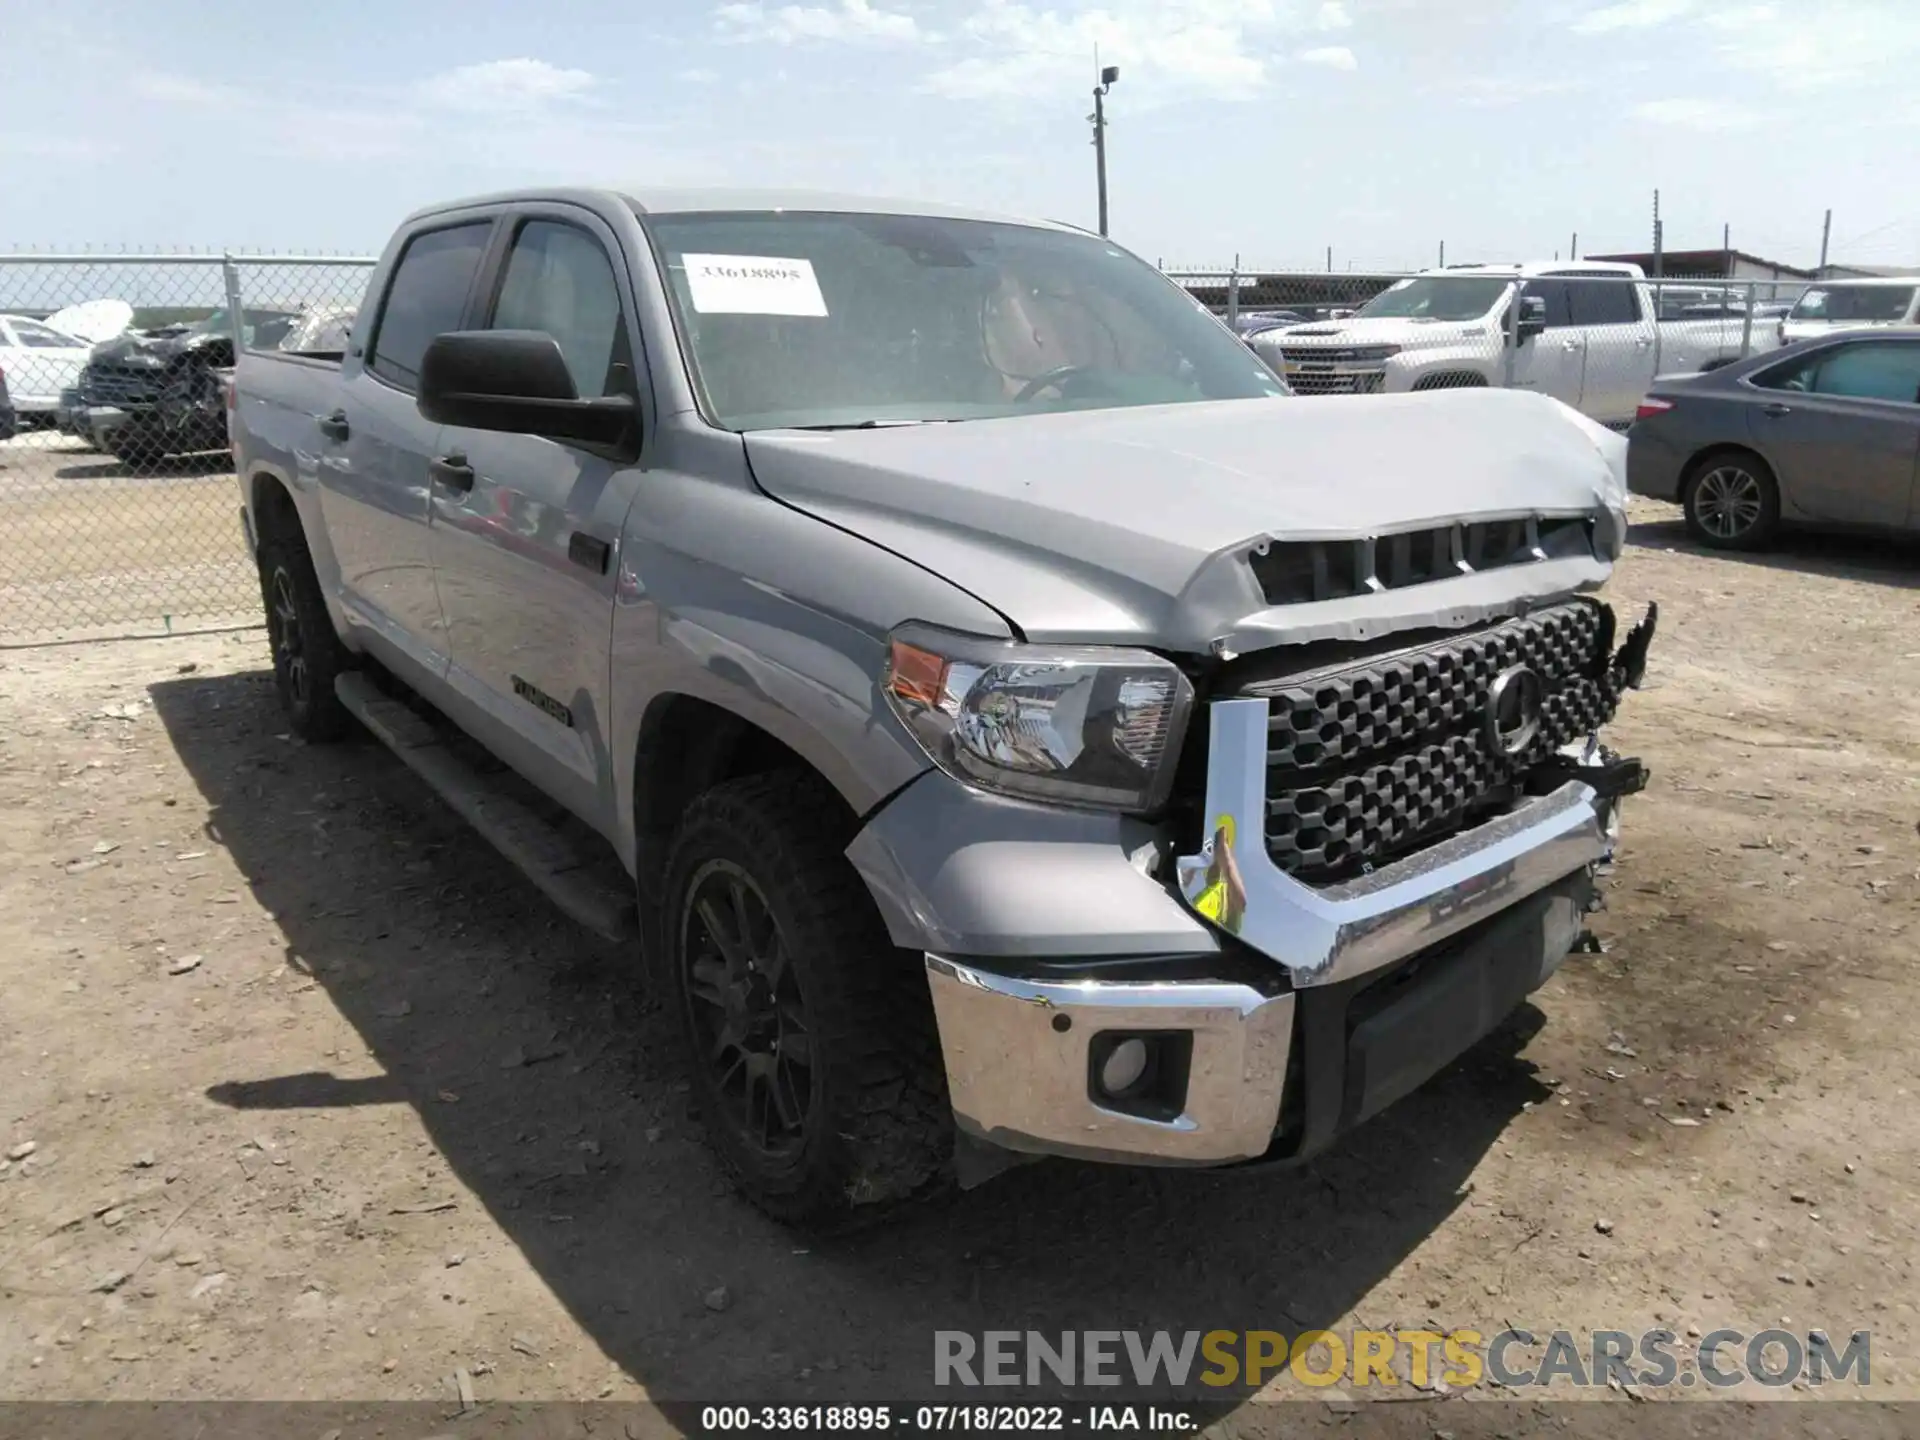
[[[259, 618], [236, 348], [344, 349], [348, 255], [0, 255], [0, 645]], [[1298, 394], [1509, 386], [1624, 426], [1655, 374], [1782, 344], [1774, 280], [1167, 269]], [[10, 432], [13, 432], [10, 436]]]

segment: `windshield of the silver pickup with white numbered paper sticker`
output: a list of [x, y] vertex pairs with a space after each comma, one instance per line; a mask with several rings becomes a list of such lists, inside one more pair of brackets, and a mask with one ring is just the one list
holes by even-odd
[[1190, 296], [1092, 236], [806, 211], [643, 223], [728, 430], [1286, 394]]

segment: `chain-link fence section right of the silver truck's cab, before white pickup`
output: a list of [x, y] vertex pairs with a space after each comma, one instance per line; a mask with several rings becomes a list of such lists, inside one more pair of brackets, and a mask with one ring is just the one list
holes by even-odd
[[1644, 280], [1571, 261], [1523, 278], [1167, 271], [1296, 394], [1515, 388], [1626, 426], [1655, 374], [1711, 371], [1784, 344], [1776, 280]]

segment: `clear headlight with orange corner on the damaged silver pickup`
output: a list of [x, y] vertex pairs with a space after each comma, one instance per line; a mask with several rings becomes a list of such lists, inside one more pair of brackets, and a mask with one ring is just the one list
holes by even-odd
[[1192, 685], [1146, 651], [893, 634], [887, 701], [935, 764], [983, 789], [1102, 810], [1167, 799]]

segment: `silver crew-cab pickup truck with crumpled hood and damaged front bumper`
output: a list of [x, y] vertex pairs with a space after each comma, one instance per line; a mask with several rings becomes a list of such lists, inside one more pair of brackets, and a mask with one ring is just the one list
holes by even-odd
[[1553, 973], [1644, 783], [1617, 436], [1294, 397], [1068, 227], [438, 205], [232, 405], [294, 730], [637, 945], [793, 1223], [1319, 1152]]

